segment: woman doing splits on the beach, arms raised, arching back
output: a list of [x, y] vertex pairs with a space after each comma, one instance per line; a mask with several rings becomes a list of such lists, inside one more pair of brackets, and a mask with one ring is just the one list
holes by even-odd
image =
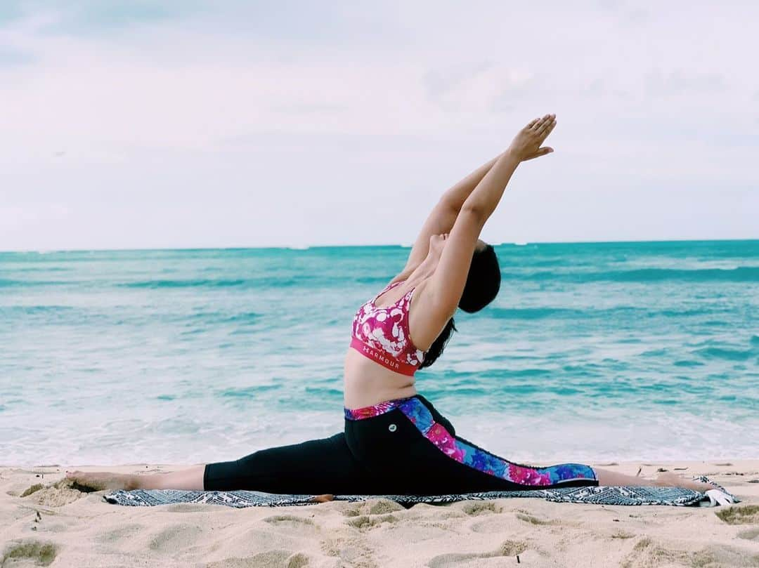
[[416, 369], [432, 365], [455, 331], [456, 309], [477, 312], [496, 297], [498, 259], [493, 246], [480, 240], [480, 232], [519, 163], [553, 152], [540, 145], [555, 126], [556, 115], [534, 119], [505, 152], [448, 190], [424, 223], [405, 268], [358, 309], [345, 356], [345, 431], [178, 472], [77, 471], [67, 477], [96, 489], [327, 495], [578, 485], [712, 488], [672, 473], [650, 480], [581, 463], [538, 467], [509, 462], [457, 436], [453, 425], [414, 388]]

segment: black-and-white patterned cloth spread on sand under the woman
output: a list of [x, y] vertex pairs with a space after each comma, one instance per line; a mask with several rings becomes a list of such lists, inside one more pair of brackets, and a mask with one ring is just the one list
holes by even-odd
[[[710, 482], [706, 477], [694, 478]], [[732, 497], [740, 500], [725, 488], [710, 482]], [[103, 495], [109, 503], [149, 507], [175, 503], [205, 503], [226, 505], [227, 507], [282, 507], [287, 505], [308, 505], [316, 503], [314, 495], [280, 495], [261, 491], [179, 491], [176, 489], [118, 489]], [[466, 500], [503, 499], [505, 497], [543, 497], [547, 501], [564, 503], [591, 503], [604, 505], [677, 505], [709, 506], [709, 498], [698, 491], [674, 487], [572, 487], [562, 489], [531, 489], [528, 491], [487, 491], [482, 493], [461, 493], [448, 495], [335, 495], [334, 501], [367, 501], [367, 499], [389, 499], [403, 507], [417, 503], [442, 504]]]

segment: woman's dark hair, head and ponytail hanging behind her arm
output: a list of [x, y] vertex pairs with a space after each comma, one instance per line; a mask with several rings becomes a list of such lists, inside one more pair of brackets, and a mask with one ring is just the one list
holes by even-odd
[[[487, 245], [484, 249], [475, 249], [469, 266], [467, 283], [461, 293], [461, 300], [458, 300], [458, 307], [468, 313], [479, 312], [480, 309], [495, 300], [500, 288], [501, 267], [498, 264], [498, 257], [493, 246]], [[435, 362], [435, 359], [442, 354], [442, 350], [446, 347], [454, 331], [458, 330], [453, 318], [451, 318], [436, 340], [433, 341], [433, 344], [430, 345], [430, 349], [424, 354], [424, 361], [419, 369], [429, 367]]]

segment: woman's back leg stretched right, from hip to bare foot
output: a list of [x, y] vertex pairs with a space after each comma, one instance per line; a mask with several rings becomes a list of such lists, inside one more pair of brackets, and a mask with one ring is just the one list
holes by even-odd
[[[395, 402], [395, 401], [394, 401]], [[378, 479], [382, 492], [440, 494], [513, 491], [584, 485], [660, 485], [705, 491], [710, 485], [665, 474], [656, 480], [582, 463], [529, 466], [496, 456], [460, 436], [432, 404], [416, 395], [383, 413], [346, 415], [351, 450]]]

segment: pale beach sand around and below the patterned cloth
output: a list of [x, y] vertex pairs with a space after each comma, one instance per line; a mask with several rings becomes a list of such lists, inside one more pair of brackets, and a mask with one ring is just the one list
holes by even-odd
[[[730, 507], [557, 504], [537, 498], [404, 509], [392, 501], [302, 507], [122, 507], [66, 487], [65, 471], [182, 466], [0, 467], [0, 566], [759, 566], [759, 460], [621, 463], [708, 475]], [[58, 487], [55, 486], [56, 482]], [[35, 484], [43, 488], [22, 497]]]

